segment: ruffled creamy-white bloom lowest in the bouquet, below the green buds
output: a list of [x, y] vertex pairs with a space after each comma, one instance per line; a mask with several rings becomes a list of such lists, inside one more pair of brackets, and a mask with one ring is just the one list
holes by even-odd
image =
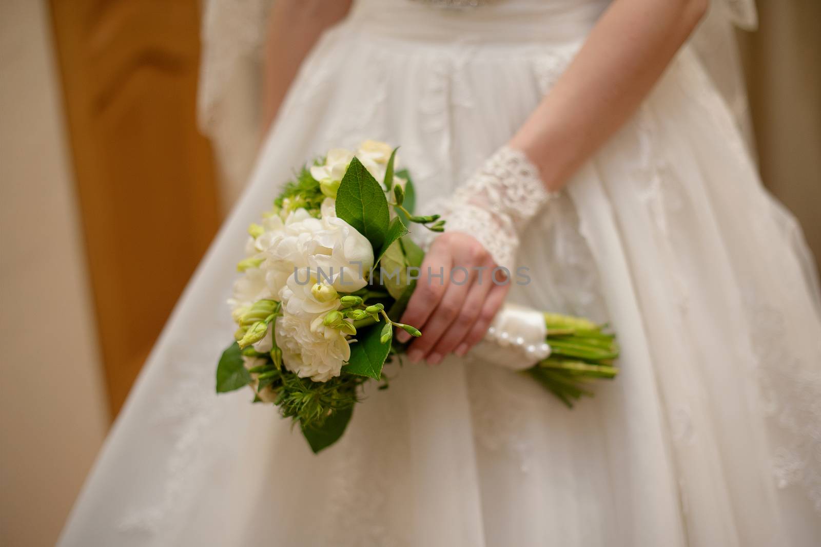
[[345, 335], [324, 326], [322, 315], [312, 319], [284, 310], [282, 317], [277, 317], [275, 332], [282, 362], [300, 378], [327, 382], [340, 374], [342, 365], [351, 357]]

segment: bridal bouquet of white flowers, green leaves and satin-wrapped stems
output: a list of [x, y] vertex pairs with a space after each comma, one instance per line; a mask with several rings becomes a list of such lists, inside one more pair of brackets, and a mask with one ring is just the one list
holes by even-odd
[[[443, 232], [445, 221], [414, 214], [410, 174], [395, 162], [396, 149], [369, 140], [302, 168], [251, 224], [237, 266], [229, 304], [238, 329], [217, 391], [250, 386], [255, 402], [300, 425], [314, 453], [342, 436], [365, 382], [388, 387], [383, 366], [405, 350], [397, 329], [423, 335], [398, 321], [424, 258], [406, 227]], [[614, 337], [586, 319], [506, 306], [480, 345], [486, 358], [507, 352], [498, 358], [507, 362], [521, 350], [525, 374], [568, 406], [591, 394], [586, 380], [617, 373]]]

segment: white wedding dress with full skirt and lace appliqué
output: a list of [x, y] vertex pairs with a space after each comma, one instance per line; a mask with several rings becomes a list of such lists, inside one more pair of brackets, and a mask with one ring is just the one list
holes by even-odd
[[314, 48], [59, 545], [819, 545], [818, 284], [690, 46], [523, 238], [534, 282], [511, 300], [618, 333], [595, 398], [570, 411], [509, 370], [405, 365], [314, 456], [250, 392], [214, 393], [245, 228], [293, 168], [385, 140], [432, 207], [607, 2], [430, 3], [360, 0]]

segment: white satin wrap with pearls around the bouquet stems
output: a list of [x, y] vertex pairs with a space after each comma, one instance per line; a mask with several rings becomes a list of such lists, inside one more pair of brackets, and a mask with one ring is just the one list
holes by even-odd
[[529, 369], [550, 355], [547, 333], [541, 311], [506, 304], [470, 356], [510, 370]]

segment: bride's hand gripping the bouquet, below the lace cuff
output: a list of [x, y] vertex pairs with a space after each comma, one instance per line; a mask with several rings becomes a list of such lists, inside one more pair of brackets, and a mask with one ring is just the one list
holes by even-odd
[[[510, 288], [504, 272], [479, 241], [461, 232], [437, 237], [425, 255], [401, 322], [422, 331], [408, 348], [411, 362], [442, 361], [450, 352], [464, 356], [487, 332]], [[400, 342], [410, 336], [397, 335]]]

